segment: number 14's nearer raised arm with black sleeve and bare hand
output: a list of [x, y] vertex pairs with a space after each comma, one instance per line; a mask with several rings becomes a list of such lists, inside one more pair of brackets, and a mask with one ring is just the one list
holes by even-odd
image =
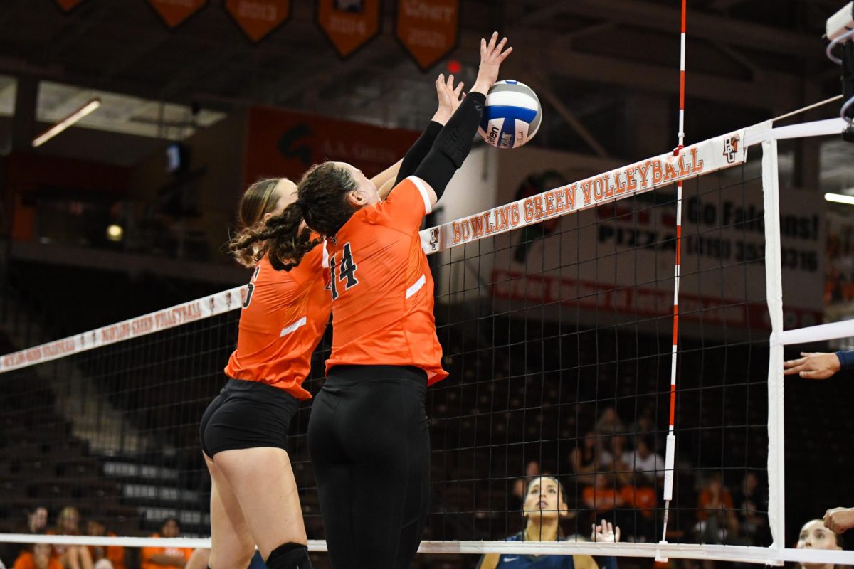
[[488, 43], [485, 39], [481, 40], [481, 63], [471, 92], [448, 119], [447, 125], [436, 136], [433, 148], [430, 148], [430, 152], [415, 171], [415, 176], [429, 186], [427, 194], [430, 197], [430, 206], [436, 205], [447, 183], [471, 152], [471, 139], [480, 125], [486, 95], [498, 78], [501, 63], [513, 50], [505, 49], [506, 44], [507, 38], [498, 41], [498, 32], [492, 34]]

